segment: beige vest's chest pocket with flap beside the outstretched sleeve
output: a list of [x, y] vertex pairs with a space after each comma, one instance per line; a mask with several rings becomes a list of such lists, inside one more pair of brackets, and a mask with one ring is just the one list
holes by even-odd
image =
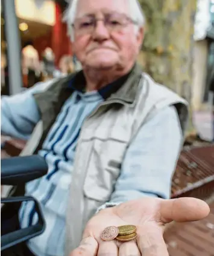
[[127, 142], [112, 137], [92, 139], [92, 152], [84, 180], [84, 195], [98, 202], [108, 202], [121, 171]]

